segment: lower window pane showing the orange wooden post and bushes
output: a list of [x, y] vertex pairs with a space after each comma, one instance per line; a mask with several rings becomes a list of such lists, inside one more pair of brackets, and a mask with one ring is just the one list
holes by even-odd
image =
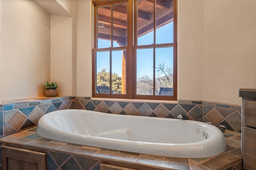
[[112, 51], [112, 94], [126, 94], [126, 50]]

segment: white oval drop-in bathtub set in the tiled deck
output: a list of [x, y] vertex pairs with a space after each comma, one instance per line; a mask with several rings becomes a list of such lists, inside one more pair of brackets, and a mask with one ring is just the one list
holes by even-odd
[[44, 115], [37, 133], [63, 142], [180, 158], [215, 156], [227, 147], [222, 132], [206, 123], [78, 109]]

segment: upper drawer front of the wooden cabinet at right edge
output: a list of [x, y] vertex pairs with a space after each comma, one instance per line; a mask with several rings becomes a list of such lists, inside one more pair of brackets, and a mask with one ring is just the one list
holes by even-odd
[[244, 125], [256, 127], [256, 101], [244, 101]]

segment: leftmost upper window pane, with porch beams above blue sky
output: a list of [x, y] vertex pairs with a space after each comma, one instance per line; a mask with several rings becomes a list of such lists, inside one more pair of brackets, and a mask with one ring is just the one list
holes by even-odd
[[100, 7], [97, 11], [97, 35], [98, 35], [98, 48], [110, 47], [110, 24], [111, 24], [111, 11], [110, 6]]

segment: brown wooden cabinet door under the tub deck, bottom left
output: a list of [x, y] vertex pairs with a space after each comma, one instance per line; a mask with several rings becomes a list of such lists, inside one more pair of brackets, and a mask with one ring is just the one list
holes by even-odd
[[46, 154], [2, 146], [2, 170], [46, 170]]

